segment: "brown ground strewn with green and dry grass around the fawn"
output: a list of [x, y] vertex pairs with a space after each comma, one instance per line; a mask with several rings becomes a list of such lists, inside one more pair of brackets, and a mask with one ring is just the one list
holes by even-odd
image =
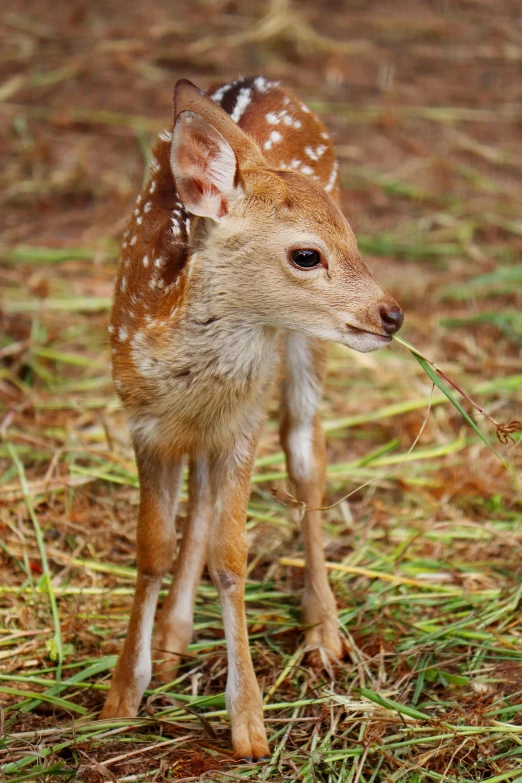
[[179, 677], [152, 683], [131, 726], [94, 722], [138, 500], [107, 310], [174, 82], [263, 73], [309, 101], [404, 336], [497, 419], [520, 419], [519, 4], [6, 0], [0, 36], [2, 780], [522, 781], [520, 454], [499, 446], [504, 470], [437, 392], [404, 459], [431, 384], [399, 346], [331, 350], [328, 499], [377, 479], [326, 514], [350, 648], [335, 680], [303, 657], [273, 418], [263, 436], [247, 606], [271, 762], [230, 759], [206, 578]]

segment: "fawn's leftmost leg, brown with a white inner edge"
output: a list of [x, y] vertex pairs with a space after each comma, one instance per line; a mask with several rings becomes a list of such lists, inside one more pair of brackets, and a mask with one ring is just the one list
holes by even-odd
[[182, 460], [165, 464], [136, 449], [140, 476], [136, 591], [127, 634], [100, 718], [134, 717], [151, 677], [151, 636], [161, 582], [176, 550]]

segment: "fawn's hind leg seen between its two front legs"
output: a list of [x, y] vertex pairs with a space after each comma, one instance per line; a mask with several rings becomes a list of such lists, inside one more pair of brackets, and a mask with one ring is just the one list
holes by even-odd
[[205, 565], [212, 521], [208, 462], [190, 462], [189, 511], [173, 568], [172, 584], [158, 615], [152, 645], [155, 674], [170, 682], [192, 638], [196, 591]]

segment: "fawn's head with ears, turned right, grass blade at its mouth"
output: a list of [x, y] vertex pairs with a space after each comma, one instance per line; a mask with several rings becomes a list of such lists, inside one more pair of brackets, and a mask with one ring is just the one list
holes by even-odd
[[357, 351], [390, 342], [402, 311], [363, 264], [335, 201], [310, 177], [270, 167], [254, 139], [186, 80], [175, 90], [171, 168], [199, 218], [193, 285], [213, 315]]

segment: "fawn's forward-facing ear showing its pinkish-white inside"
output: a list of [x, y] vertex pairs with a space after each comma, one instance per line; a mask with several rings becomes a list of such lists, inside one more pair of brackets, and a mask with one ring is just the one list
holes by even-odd
[[178, 115], [170, 166], [188, 212], [219, 221], [241, 198], [237, 160], [222, 133], [192, 111]]

